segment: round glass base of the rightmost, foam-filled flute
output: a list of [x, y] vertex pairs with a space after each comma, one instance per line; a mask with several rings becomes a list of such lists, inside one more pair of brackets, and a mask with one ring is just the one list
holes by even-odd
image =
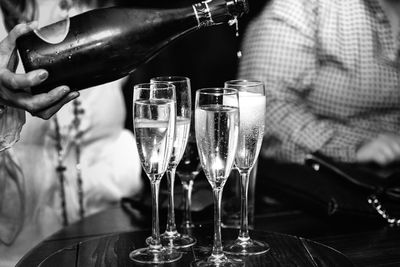
[[236, 239], [233, 243], [224, 246], [224, 252], [235, 256], [260, 255], [267, 253], [270, 247], [263, 241]]

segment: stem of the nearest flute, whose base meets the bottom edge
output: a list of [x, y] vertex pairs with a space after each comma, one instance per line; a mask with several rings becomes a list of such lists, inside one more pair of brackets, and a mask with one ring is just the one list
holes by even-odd
[[221, 237], [221, 200], [222, 200], [222, 187], [213, 188], [214, 195], [214, 244], [212, 249], [212, 258], [221, 258], [224, 256], [222, 251], [222, 237]]

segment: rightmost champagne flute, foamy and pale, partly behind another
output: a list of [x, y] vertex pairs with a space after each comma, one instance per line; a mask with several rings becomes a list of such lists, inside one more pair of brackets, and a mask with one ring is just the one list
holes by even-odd
[[257, 255], [269, 250], [263, 241], [253, 240], [248, 227], [248, 187], [251, 170], [260, 153], [264, 136], [266, 98], [264, 84], [259, 81], [232, 80], [225, 88], [239, 91], [240, 127], [235, 166], [240, 174], [241, 203], [240, 231], [238, 238], [224, 247], [224, 252], [233, 255]]

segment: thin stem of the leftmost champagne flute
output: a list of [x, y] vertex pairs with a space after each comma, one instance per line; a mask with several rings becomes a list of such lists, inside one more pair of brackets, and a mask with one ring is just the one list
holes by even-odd
[[151, 181], [151, 211], [152, 211], [152, 228], [150, 247], [153, 249], [161, 248], [160, 240], [160, 221], [158, 217], [158, 197], [160, 191], [160, 179]]

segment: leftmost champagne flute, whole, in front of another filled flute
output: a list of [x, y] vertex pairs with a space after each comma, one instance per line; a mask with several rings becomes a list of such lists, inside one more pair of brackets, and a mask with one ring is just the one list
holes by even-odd
[[172, 84], [134, 86], [133, 127], [142, 168], [150, 179], [152, 196], [152, 238], [148, 247], [129, 254], [139, 263], [168, 263], [182, 257], [182, 253], [173, 248], [162, 246], [158, 217], [160, 181], [167, 170], [174, 142], [175, 100], [175, 86]]

